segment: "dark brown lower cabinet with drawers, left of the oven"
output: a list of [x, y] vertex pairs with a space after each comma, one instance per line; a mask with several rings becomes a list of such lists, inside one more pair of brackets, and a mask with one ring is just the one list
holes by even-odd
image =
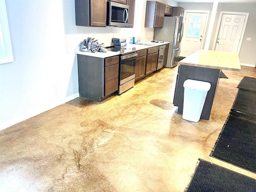
[[119, 56], [98, 58], [77, 55], [79, 95], [102, 101], [118, 90]]

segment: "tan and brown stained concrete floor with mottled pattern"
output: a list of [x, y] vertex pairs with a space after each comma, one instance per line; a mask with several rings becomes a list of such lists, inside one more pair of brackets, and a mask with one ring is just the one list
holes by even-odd
[[76, 98], [0, 132], [1, 192], [182, 192], [209, 156], [243, 76], [223, 70], [210, 120], [189, 122], [172, 105], [178, 68], [164, 68], [120, 96]]

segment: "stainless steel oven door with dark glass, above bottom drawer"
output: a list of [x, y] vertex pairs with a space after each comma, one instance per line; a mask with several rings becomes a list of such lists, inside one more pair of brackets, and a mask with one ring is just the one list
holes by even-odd
[[135, 78], [135, 64], [137, 53], [121, 56], [120, 62], [120, 85]]

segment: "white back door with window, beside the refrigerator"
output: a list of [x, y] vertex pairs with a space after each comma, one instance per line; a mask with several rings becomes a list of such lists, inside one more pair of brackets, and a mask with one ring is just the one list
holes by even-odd
[[207, 19], [207, 13], [186, 13], [180, 56], [187, 57], [197, 50], [202, 49]]

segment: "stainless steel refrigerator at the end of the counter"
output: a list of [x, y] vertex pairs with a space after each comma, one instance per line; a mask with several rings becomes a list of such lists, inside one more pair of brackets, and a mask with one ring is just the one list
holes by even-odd
[[167, 64], [164, 67], [173, 68], [180, 61], [180, 42], [183, 36], [183, 17], [164, 17], [163, 28], [155, 28], [154, 40], [170, 42]]

